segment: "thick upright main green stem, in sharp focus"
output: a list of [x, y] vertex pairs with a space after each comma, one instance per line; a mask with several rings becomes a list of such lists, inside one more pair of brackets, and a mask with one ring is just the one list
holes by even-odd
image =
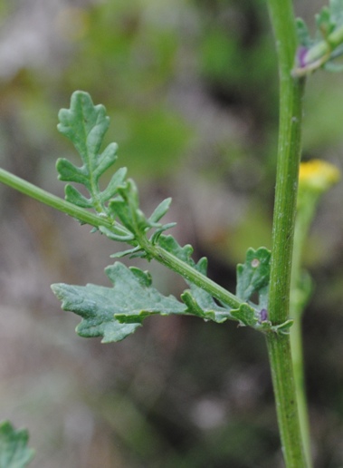
[[[268, 314], [273, 325], [289, 318], [291, 258], [300, 164], [303, 80], [291, 76], [296, 33], [290, 0], [268, 1], [279, 55], [280, 131], [272, 228], [272, 267]], [[268, 334], [281, 444], [287, 468], [306, 467], [300, 434], [290, 336]]]

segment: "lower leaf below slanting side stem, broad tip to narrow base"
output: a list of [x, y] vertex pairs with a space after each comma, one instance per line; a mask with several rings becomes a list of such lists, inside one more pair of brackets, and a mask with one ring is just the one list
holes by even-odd
[[53, 293], [62, 300], [62, 309], [82, 317], [76, 327], [80, 336], [102, 336], [102, 343], [120, 341], [134, 333], [146, 317], [157, 314], [194, 315], [216, 323], [232, 319], [250, 326], [257, 322], [254, 309], [248, 304], [237, 310], [219, 306], [210, 294], [194, 285], [181, 295], [183, 302], [180, 302], [153, 288], [148, 272], [127, 268], [119, 262], [105, 271], [112, 288], [93, 284], [52, 285]]

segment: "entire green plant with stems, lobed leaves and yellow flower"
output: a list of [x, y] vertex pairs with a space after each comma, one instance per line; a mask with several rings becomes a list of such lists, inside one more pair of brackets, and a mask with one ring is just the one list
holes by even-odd
[[[139, 209], [138, 190], [126, 170], [119, 169], [106, 189], [100, 177], [117, 160], [117, 145], [100, 150], [109, 128], [102, 105], [88, 93], [71, 96], [70, 109], [59, 113], [58, 130], [73, 143], [82, 165], [57, 161], [59, 179], [67, 183], [65, 200], [4, 170], [0, 181], [92, 226], [111, 240], [129, 246], [113, 258], [129, 256], [157, 260], [185, 278], [188, 289], [180, 300], [164, 296], [152, 286], [147, 271], [127, 268], [119, 261], [106, 268], [112, 288], [52, 285], [64, 310], [81, 316], [80, 336], [102, 336], [103, 343], [132, 334], [146, 317], [160, 314], [193, 315], [262, 332], [268, 346], [281, 446], [287, 468], [311, 467], [309, 422], [303, 384], [301, 313], [310, 297], [310, 278], [301, 268], [301, 252], [320, 195], [339, 179], [338, 170], [323, 161], [300, 164], [302, 96], [310, 73], [338, 69], [343, 54], [343, 0], [330, 0], [316, 16], [317, 34], [310, 37], [302, 20], [295, 20], [291, 0], [268, 0], [279, 60], [280, 131], [272, 226], [272, 252], [248, 249], [237, 267], [237, 287], [229, 292], [207, 278], [206, 258], [197, 263], [193, 249], [181, 247], [163, 219], [170, 199], [147, 217]], [[86, 197], [73, 183], [83, 185]], [[297, 212], [297, 217], [296, 217]], [[252, 297], [258, 297], [252, 302]], [[291, 353], [292, 351], [292, 353]], [[24, 466], [33, 453], [27, 434], [11, 424], [0, 425], [0, 466]]]

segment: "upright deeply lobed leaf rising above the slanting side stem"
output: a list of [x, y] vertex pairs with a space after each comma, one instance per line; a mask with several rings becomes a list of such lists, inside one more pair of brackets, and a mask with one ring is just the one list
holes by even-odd
[[[93, 209], [100, 217], [106, 219], [106, 228], [97, 229], [112, 240], [129, 242], [136, 249], [138, 239], [146, 237], [153, 229], [150, 242], [155, 244], [166, 229], [175, 223], [159, 223], [167, 212], [171, 199], [163, 200], [148, 219], [139, 209], [139, 198], [136, 184], [127, 180], [126, 168], [119, 168], [110, 177], [104, 190], [100, 190], [100, 177], [117, 161], [117, 143], [110, 143], [100, 152], [103, 138], [109, 129], [110, 119], [103, 105], [94, 105], [89, 93], [77, 91], [71, 95], [70, 109], [59, 112], [58, 130], [72, 141], [79, 152], [80, 167], [67, 159], [60, 158], [56, 163], [59, 179], [83, 185], [90, 196], [83, 194], [73, 184], [65, 186], [65, 198], [82, 209]], [[109, 228], [109, 221], [112, 225]], [[139, 253], [137, 253], [139, 251]], [[135, 256], [148, 258], [144, 249], [138, 249]], [[131, 249], [123, 255], [132, 255]]]

